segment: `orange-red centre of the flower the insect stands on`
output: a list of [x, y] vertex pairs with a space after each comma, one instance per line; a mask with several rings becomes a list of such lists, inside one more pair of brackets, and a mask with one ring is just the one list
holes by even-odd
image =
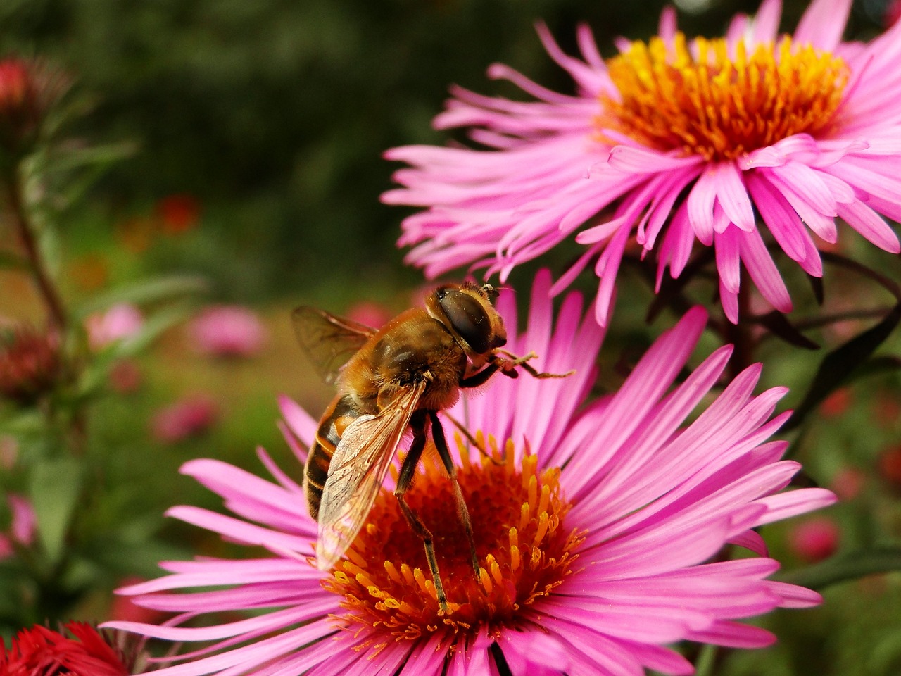
[[[469, 507], [478, 579], [469, 542], [457, 516], [451, 481], [441, 464], [426, 453], [424, 473], [406, 493], [407, 502], [434, 536], [441, 582], [450, 613], [439, 613], [423, 542], [407, 525], [392, 491], [382, 489], [346, 558], [323, 580], [341, 595], [346, 612], [335, 619], [357, 632], [380, 631], [376, 653], [392, 641], [443, 633], [448, 644], [483, 627], [489, 632], [515, 626], [523, 607], [547, 596], [572, 570], [581, 542], [567, 532], [563, 517], [569, 503], [560, 496], [560, 470], [538, 470], [537, 458], [514, 461], [513, 443], [498, 452], [469, 458], [457, 439], [462, 463], [458, 480]], [[370, 647], [360, 644], [359, 649]]]

